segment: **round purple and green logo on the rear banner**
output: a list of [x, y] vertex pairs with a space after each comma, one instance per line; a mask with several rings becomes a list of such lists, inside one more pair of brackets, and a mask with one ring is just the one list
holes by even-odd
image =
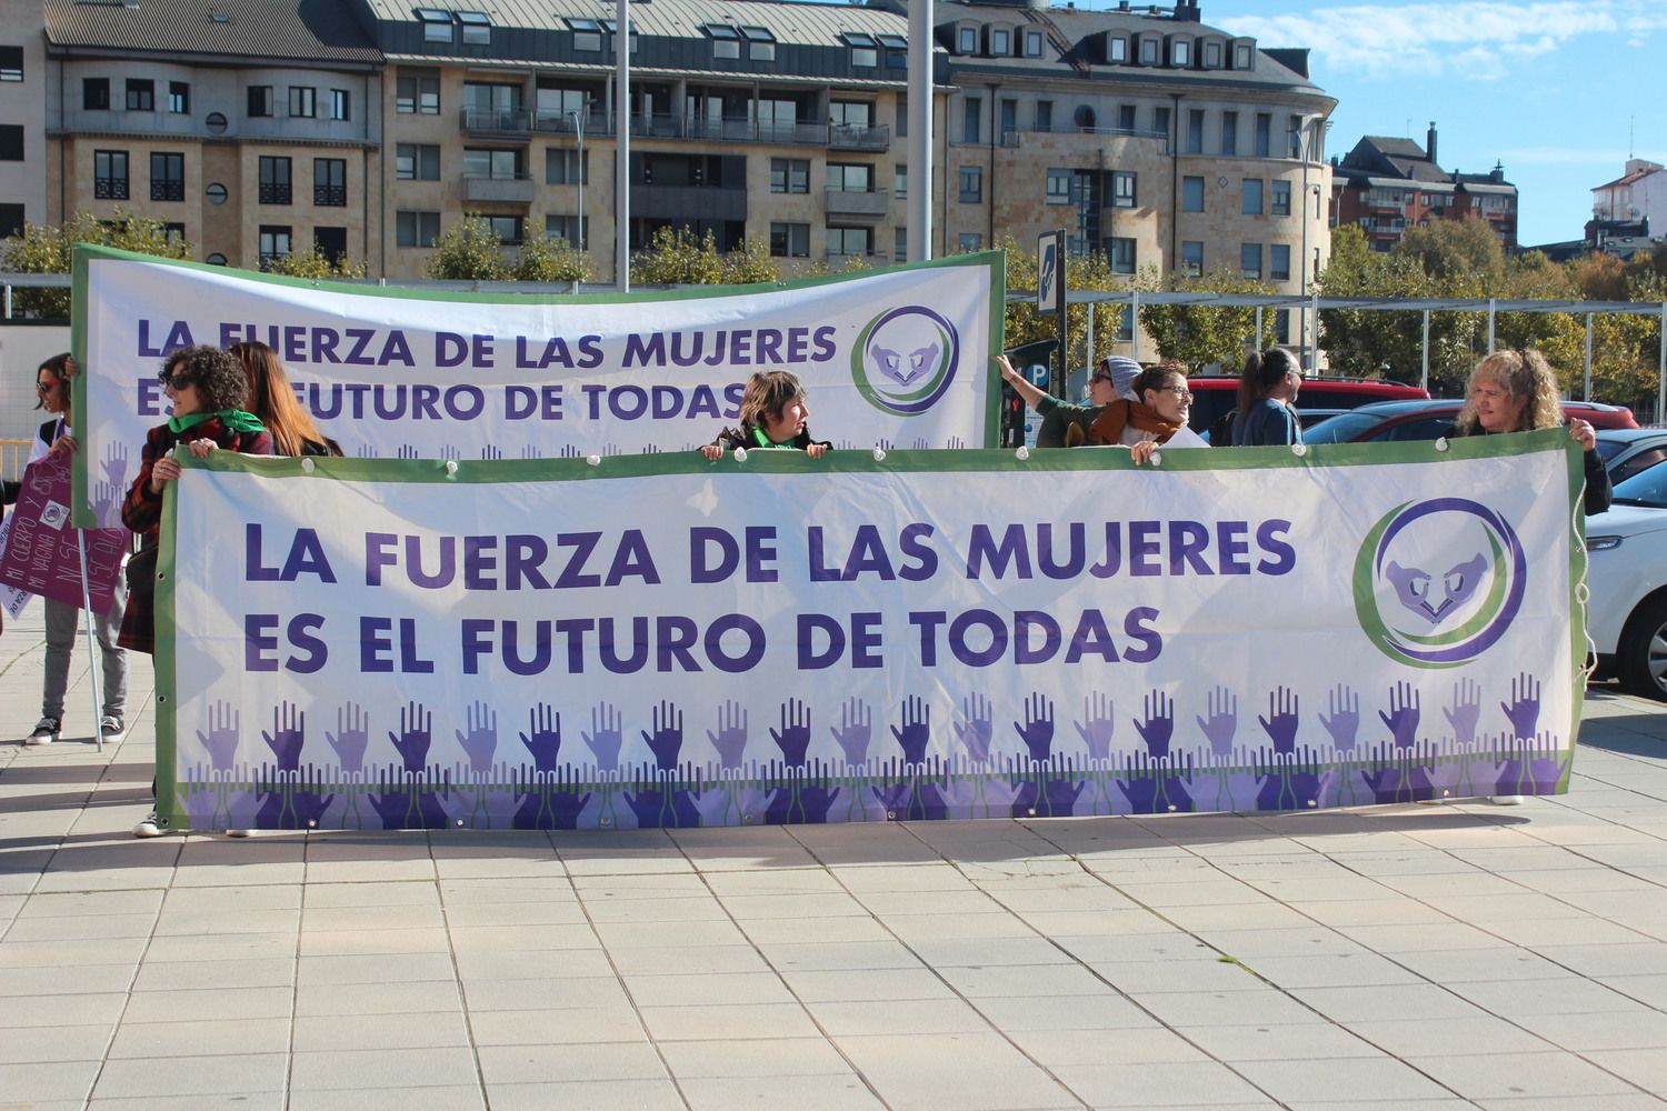
[[919, 416], [944, 396], [959, 363], [955, 325], [924, 305], [905, 305], [862, 330], [850, 353], [850, 375], [874, 408]]

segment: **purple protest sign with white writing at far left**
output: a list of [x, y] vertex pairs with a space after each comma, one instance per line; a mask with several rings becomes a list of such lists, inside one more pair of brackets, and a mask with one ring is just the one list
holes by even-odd
[[0, 585], [80, 608], [80, 543], [85, 543], [87, 590], [93, 613], [110, 611], [128, 533], [125, 528], [93, 528], [80, 533], [82, 541], [77, 541], [78, 530], [70, 525], [68, 451], [47, 455], [28, 465], [17, 506], [7, 515], [5, 526]]

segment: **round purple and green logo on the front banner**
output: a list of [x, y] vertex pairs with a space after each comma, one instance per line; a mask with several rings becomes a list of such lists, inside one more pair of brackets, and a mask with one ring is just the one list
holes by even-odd
[[1469, 498], [1407, 501], [1360, 545], [1355, 615], [1390, 660], [1454, 668], [1504, 636], [1527, 578], [1522, 541], [1494, 510]]

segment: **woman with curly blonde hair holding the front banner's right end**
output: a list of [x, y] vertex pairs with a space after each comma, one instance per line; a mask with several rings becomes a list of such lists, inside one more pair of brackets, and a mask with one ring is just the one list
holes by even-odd
[[[1564, 423], [1557, 405], [1557, 375], [1539, 351], [1515, 348], [1494, 351], [1470, 371], [1465, 403], [1454, 420], [1455, 436], [1492, 436], [1507, 431], [1535, 431]], [[1609, 471], [1597, 456], [1597, 433], [1589, 421], [1567, 421], [1569, 435], [1585, 450], [1585, 511], [1609, 508]]]

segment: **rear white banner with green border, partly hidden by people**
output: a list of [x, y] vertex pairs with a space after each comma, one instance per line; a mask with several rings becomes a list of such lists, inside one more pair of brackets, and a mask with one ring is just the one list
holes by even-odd
[[[162, 356], [260, 340], [353, 456], [682, 450], [790, 370], [842, 446], [994, 446], [1000, 252], [782, 285], [530, 296], [310, 281], [75, 248], [77, 521], [168, 415]], [[118, 508], [118, 506], [117, 506]], [[115, 525], [115, 510], [98, 520]], [[85, 516], [83, 516], [85, 515]]]

